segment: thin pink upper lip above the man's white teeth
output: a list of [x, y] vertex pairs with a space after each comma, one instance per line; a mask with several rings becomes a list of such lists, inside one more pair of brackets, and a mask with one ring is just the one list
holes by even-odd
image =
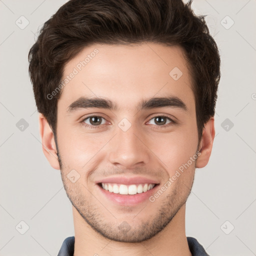
[[153, 183], [158, 184], [159, 182], [154, 179], [146, 178], [143, 176], [132, 176], [132, 177], [107, 177], [100, 180], [97, 180], [96, 183], [117, 183], [117, 184], [140, 184], [140, 183]]

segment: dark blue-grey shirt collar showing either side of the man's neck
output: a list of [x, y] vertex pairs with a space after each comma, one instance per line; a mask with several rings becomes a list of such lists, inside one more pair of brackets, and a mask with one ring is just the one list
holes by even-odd
[[[193, 237], [186, 237], [192, 256], [209, 256], [202, 245]], [[74, 236], [69, 236], [63, 241], [57, 256], [73, 256]]]

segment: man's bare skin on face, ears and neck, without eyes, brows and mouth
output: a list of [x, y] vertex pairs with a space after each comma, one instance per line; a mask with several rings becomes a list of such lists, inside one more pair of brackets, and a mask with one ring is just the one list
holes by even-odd
[[[63, 87], [58, 100], [58, 148], [50, 126], [39, 114], [43, 152], [51, 166], [60, 169], [72, 203], [74, 255], [191, 255], [185, 235], [185, 202], [195, 168], [204, 167], [209, 160], [215, 131], [211, 117], [198, 141], [194, 95], [184, 53], [179, 46], [157, 43], [93, 44], [66, 63], [63, 76], [95, 48], [99, 52]], [[183, 73], [178, 80], [169, 75], [173, 67]], [[167, 95], [180, 98], [187, 111], [178, 107], [135, 108], [141, 99]], [[68, 106], [80, 96], [108, 98], [119, 110], [80, 108], [68, 113]], [[103, 118], [97, 128], [80, 122], [98, 114]], [[166, 118], [166, 124], [159, 125], [153, 117], [162, 115], [176, 123], [168, 125]], [[123, 118], [131, 124], [125, 132], [118, 127]], [[92, 126], [90, 120], [87, 118], [85, 124]], [[200, 154], [196, 161], [154, 202], [117, 205], [107, 200], [95, 184], [95, 180], [118, 174], [157, 179], [161, 186], [197, 150]], [[74, 183], [66, 176], [72, 169], [80, 175]], [[124, 221], [130, 227], [128, 231], [118, 228]]]

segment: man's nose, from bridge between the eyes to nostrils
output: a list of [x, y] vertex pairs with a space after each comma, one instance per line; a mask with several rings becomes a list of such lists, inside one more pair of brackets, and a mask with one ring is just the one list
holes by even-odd
[[135, 126], [131, 125], [126, 131], [117, 126], [116, 135], [110, 140], [109, 162], [117, 167], [132, 169], [149, 161], [150, 149], [146, 145], [146, 136]]

